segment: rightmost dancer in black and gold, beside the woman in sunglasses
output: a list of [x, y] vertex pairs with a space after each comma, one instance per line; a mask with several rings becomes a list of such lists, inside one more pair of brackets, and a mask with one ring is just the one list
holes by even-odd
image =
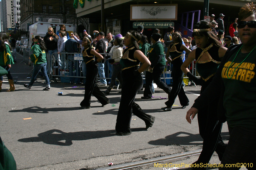
[[[225, 55], [227, 48], [221, 47], [218, 37], [212, 30], [209, 22], [199, 21], [193, 30], [193, 37], [196, 42], [197, 48], [189, 53], [188, 58], [181, 65], [181, 70], [195, 83], [202, 86], [201, 92], [212, 81], [221, 59]], [[200, 78], [196, 78], [189, 70], [189, 64], [196, 60], [196, 70]], [[204, 139], [203, 150], [194, 164], [207, 164], [209, 163], [213, 152], [219, 155], [221, 160], [225, 151], [224, 143], [220, 137], [222, 123], [218, 122], [215, 113], [217, 112], [218, 100], [212, 101], [210, 105], [205, 105], [199, 109], [197, 118], [200, 136]], [[217, 145], [218, 144], [218, 145]]]

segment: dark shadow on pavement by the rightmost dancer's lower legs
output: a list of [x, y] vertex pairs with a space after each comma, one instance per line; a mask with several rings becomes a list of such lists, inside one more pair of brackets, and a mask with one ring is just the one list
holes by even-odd
[[[221, 133], [221, 136], [229, 136], [228, 132]], [[223, 137], [222, 137], [223, 138]], [[224, 138], [223, 138], [224, 139]], [[191, 134], [188, 132], [177, 132], [172, 135], [166, 136], [164, 139], [157, 139], [153, 141], [149, 141], [148, 144], [152, 145], [198, 145], [203, 144], [203, 139], [200, 134]]]

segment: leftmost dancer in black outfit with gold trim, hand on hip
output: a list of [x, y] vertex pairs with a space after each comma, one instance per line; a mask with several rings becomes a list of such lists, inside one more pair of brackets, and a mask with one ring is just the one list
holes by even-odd
[[[97, 63], [103, 60], [103, 56], [97, 53], [91, 46], [92, 39], [90, 37], [84, 37], [82, 46], [83, 50], [83, 59], [86, 64], [86, 83], [85, 83], [85, 93], [84, 100], [80, 103], [80, 109], [91, 108], [91, 96], [95, 96], [102, 107], [109, 103], [108, 98], [100, 91], [98, 85], [96, 85], [95, 80], [98, 75]], [[95, 57], [97, 60], [95, 60]]]

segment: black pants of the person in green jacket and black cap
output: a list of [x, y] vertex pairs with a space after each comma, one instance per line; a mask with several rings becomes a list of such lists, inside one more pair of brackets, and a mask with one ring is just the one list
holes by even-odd
[[164, 68], [165, 65], [156, 65], [153, 69], [153, 73], [149, 71], [146, 72], [146, 86], [143, 94], [144, 96], [152, 97], [152, 80], [154, 80], [154, 83], [156, 83], [157, 87], [163, 89], [167, 94], [171, 92], [171, 88], [163, 81], [161, 81], [161, 75], [163, 74]]

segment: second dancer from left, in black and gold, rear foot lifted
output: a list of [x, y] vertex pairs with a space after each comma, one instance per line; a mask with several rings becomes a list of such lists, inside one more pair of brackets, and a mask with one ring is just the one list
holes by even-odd
[[[145, 114], [140, 106], [134, 102], [136, 94], [143, 85], [141, 72], [145, 71], [150, 62], [140, 51], [138, 41], [141, 36], [138, 32], [128, 32], [124, 38], [124, 45], [127, 46], [120, 60], [122, 65], [122, 96], [116, 119], [116, 135], [130, 135], [130, 123], [132, 114], [138, 116], [146, 123], [146, 129], [152, 127], [155, 117]], [[142, 66], [140, 66], [140, 62]]]

